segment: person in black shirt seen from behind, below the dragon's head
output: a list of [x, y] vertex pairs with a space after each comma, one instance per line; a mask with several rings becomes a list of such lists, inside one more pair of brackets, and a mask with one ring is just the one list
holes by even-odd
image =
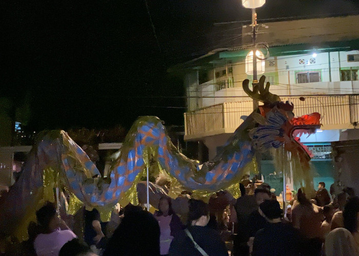
[[255, 233], [251, 255], [300, 255], [299, 233], [290, 225], [282, 223], [283, 211], [278, 201], [265, 200], [258, 212], [267, 225]]

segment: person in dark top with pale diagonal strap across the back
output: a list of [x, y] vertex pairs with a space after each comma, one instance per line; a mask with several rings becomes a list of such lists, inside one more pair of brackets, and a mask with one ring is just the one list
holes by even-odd
[[[191, 199], [189, 201], [188, 227], [178, 233], [170, 245], [170, 256], [227, 256], [228, 251], [220, 234], [209, 227], [208, 205], [201, 201]], [[193, 239], [193, 240], [192, 240]], [[196, 248], [196, 243], [200, 248]], [[201, 253], [200, 251], [203, 250]]]

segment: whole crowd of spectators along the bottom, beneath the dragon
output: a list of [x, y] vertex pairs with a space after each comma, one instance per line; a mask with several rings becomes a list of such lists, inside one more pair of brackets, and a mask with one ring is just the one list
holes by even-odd
[[[163, 196], [152, 215], [142, 206], [114, 207], [105, 227], [96, 209], [85, 210], [84, 236], [77, 237], [46, 203], [28, 228], [29, 239], [0, 233], [3, 255], [359, 255], [359, 198], [352, 189], [330, 195], [321, 182], [315, 197], [301, 188], [285, 212], [262, 183], [240, 183], [241, 197], [220, 191], [209, 203], [189, 199], [188, 215], [177, 216]], [[233, 224], [232, 222], [235, 222]], [[230, 234], [227, 236], [226, 234]], [[228, 240], [232, 243], [225, 243]]]

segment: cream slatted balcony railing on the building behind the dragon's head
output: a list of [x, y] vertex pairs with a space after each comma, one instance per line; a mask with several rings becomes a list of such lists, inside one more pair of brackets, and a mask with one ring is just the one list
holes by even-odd
[[[295, 116], [313, 112], [322, 114], [323, 130], [352, 129], [359, 122], [359, 94], [281, 96], [283, 101], [294, 104]], [[243, 122], [241, 116], [253, 111], [249, 97], [223, 102], [185, 113], [185, 140], [197, 140], [207, 136], [233, 133]]]

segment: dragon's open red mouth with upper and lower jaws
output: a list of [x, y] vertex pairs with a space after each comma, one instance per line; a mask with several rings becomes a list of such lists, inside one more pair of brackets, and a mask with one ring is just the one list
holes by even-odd
[[290, 120], [290, 124], [292, 125], [291, 130], [289, 131], [289, 137], [291, 141], [297, 145], [298, 148], [305, 153], [305, 156], [308, 160], [313, 157], [312, 152], [301, 142], [299, 138], [302, 135], [307, 134], [308, 136], [314, 134], [317, 129], [320, 129], [321, 123], [321, 114], [312, 113], [310, 115], [304, 115], [301, 117], [296, 117]]

